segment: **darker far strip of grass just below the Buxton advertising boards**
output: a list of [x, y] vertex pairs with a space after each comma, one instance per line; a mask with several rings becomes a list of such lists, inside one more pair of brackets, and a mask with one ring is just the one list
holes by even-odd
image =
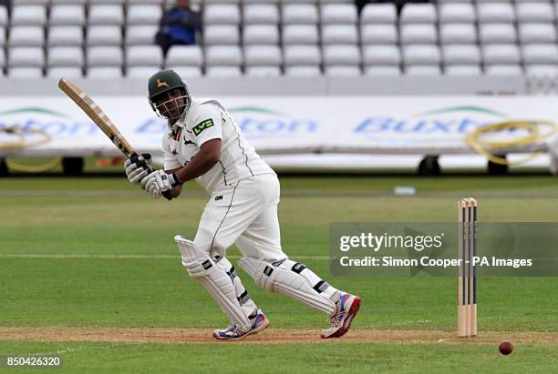
[[[328, 194], [340, 192], [346, 194], [393, 192], [397, 186], [416, 187], [418, 193], [455, 193], [482, 192], [499, 194], [529, 194], [530, 197], [544, 194], [558, 194], [556, 177], [550, 175], [511, 175], [508, 177], [487, 176], [441, 176], [441, 177], [406, 177], [406, 176], [361, 176], [361, 177], [283, 177], [282, 191], [286, 194]], [[186, 185], [188, 191], [196, 194], [202, 189], [195, 183]], [[45, 191], [62, 190], [70, 192], [86, 191], [128, 191], [141, 195], [141, 191], [126, 183], [126, 179], [115, 174], [113, 177], [7, 177], [0, 179], [0, 191]]]

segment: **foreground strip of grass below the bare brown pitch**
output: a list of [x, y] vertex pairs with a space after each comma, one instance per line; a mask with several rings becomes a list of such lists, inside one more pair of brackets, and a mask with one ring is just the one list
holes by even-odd
[[[491, 345], [7, 343], [0, 350], [58, 353], [53, 372], [551, 372], [555, 347], [522, 346], [508, 357]], [[8, 350], [9, 351], [9, 350]], [[148, 359], [149, 358], [149, 359]], [[14, 371], [14, 370], [13, 370]], [[16, 370], [15, 372], [23, 372]], [[30, 370], [29, 372], [36, 372]]]

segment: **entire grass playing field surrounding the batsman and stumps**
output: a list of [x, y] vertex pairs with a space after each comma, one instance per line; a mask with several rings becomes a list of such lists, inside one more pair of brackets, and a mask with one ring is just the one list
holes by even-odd
[[[415, 186], [419, 194], [393, 197], [395, 186]], [[330, 276], [330, 222], [452, 221], [457, 198], [466, 196], [478, 197], [482, 221], [558, 221], [553, 177], [283, 178], [284, 250], [363, 298], [355, 335], [274, 341], [274, 331], [317, 335], [326, 318], [256, 288], [241, 271], [272, 325], [267, 340], [222, 344], [189, 342], [180, 332], [227, 323], [181, 267], [172, 240], [195, 233], [207, 199], [199, 187], [189, 186], [169, 203], [123, 177], [0, 179], [0, 356], [59, 351], [66, 361], [62, 372], [558, 371], [557, 278], [481, 278], [475, 342], [449, 338], [457, 319], [454, 278]], [[229, 253], [240, 257], [235, 248]], [[76, 341], [71, 334], [45, 338], [26, 328], [85, 333]], [[114, 329], [118, 341], [87, 339], [100, 329]], [[122, 338], [122, 329], [133, 332]], [[155, 329], [165, 329], [169, 342], [150, 339]], [[502, 339], [516, 343], [510, 357], [497, 351]]]

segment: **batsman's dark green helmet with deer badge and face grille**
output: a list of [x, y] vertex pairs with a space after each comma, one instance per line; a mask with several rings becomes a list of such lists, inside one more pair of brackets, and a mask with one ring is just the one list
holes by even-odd
[[150, 76], [150, 80], [148, 82], [148, 91], [149, 91], [149, 99], [150, 99], [150, 106], [158, 116], [168, 119], [178, 118], [178, 116], [168, 116], [167, 114], [162, 111], [160, 106], [157, 106], [154, 97], [160, 94], [164, 94], [167, 91], [171, 91], [175, 88], [182, 89], [182, 98], [184, 100], [184, 104], [181, 105], [181, 115], [188, 109], [191, 103], [190, 92], [188, 90], [188, 86], [184, 83], [181, 76], [179, 76], [174, 70], [161, 70], [158, 73], [155, 73], [153, 76]]

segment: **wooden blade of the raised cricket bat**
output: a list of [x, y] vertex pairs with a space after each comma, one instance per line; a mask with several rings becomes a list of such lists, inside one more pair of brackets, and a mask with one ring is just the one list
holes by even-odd
[[93, 120], [106, 136], [109, 136], [110, 141], [118, 147], [126, 157], [131, 157], [136, 154], [134, 148], [131, 147], [128, 140], [120, 134], [119, 129], [114, 126], [109, 116], [107, 116], [100, 106], [98, 106], [81, 88], [66, 78], [60, 79], [58, 87], [76, 103], [91, 120]]

